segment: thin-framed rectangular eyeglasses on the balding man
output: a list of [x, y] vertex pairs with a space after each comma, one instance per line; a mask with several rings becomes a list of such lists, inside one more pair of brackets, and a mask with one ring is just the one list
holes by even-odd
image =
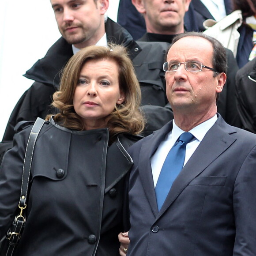
[[218, 72], [214, 68], [204, 66], [200, 61], [186, 61], [186, 62], [169, 61], [163, 64], [163, 69], [165, 72], [175, 72], [178, 70], [181, 64], [184, 64], [185, 69], [190, 72], [200, 72], [202, 71], [202, 68], [208, 68], [212, 71]]

